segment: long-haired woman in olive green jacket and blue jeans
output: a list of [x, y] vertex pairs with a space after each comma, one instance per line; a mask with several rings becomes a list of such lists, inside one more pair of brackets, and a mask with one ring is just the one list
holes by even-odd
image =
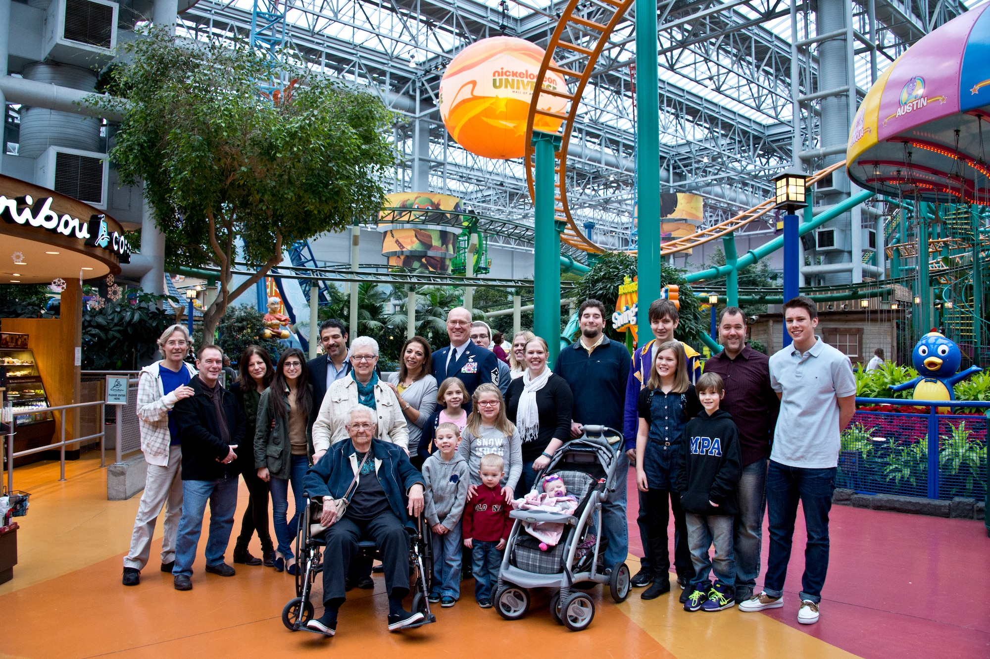
[[[268, 482], [275, 520], [275, 570], [296, 574], [292, 538], [296, 534], [305, 499], [303, 477], [313, 456], [313, 387], [306, 356], [299, 348], [282, 353], [271, 386], [261, 395], [254, 428], [254, 466], [257, 476]], [[295, 513], [289, 512], [289, 485]]]

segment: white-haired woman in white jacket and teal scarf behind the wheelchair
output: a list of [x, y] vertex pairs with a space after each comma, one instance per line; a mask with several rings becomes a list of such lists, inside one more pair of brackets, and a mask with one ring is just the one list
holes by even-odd
[[347, 413], [358, 405], [374, 412], [374, 435], [400, 446], [409, 454], [409, 427], [403, 403], [391, 387], [378, 379], [378, 341], [358, 336], [350, 344], [350, 374], [330, 386], [313, 424], [313, 455], [319, 461], [331, 444], [347, 439]]

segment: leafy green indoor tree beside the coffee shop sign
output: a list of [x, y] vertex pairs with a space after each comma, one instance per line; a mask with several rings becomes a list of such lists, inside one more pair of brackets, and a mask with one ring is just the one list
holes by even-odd
[[[274, 71], [244, 42], [176, 43], [153, 28], [125, 48], [112, 95], [91, 103], [124, 116], [110, 158], [123, 184], [144, 182], [166, 267], [221, 271], [206, 335], [283, 246], [381, 208], [395, 152], [376, 97], [290, 64]], [[261, 91], [279, 77], [289, 84]], [[231, 290], [236, 266], [248, 276]]]

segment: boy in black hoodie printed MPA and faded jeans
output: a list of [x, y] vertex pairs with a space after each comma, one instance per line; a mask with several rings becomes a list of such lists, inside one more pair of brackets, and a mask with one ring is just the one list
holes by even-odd
[[[739, 434], [728, 412], [719, 410], [725, 385], [705, 373], [695, 385], [704, 412], [684, 427], [675, 483], [687, 518], [695, 578], [684, 611], [722, 611], [736, 604], [733, 520], [739, 514], [736, 488], [743, 473]], [[715, 560], [708, 549], [715, 544]], [[715, 572], [713, 586], [708, 573]]]

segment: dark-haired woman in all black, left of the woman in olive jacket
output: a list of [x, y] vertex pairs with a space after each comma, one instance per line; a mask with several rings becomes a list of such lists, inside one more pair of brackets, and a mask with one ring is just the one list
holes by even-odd
[[[231, 385], [231, 393], [244, 410], [248, 427], [254, 427], [261, 394], [271, 384], [275, 370], [271, 367], [268, 351], [260, 345], [248, 345], [241, 352], [238, 369], [240, 377]], [[241, 521], [241, 535], [234, 545], [234, 562], [244, 565], [263, 563], [265, 567], [272, 567], [275, 564], [275, 547], [272, 545], [271, 532], [268, 530], [268, 484], [257, 477], [251, 451], [239, 451], [236, 464], [241, 475], [244, 476], [250, 496], [247, 499], [245, 517]], [[247, 544], [254, 531], [257, 531], [257, 539], [261, 541], [261, 558], [251, 556], [247, 551]]]

